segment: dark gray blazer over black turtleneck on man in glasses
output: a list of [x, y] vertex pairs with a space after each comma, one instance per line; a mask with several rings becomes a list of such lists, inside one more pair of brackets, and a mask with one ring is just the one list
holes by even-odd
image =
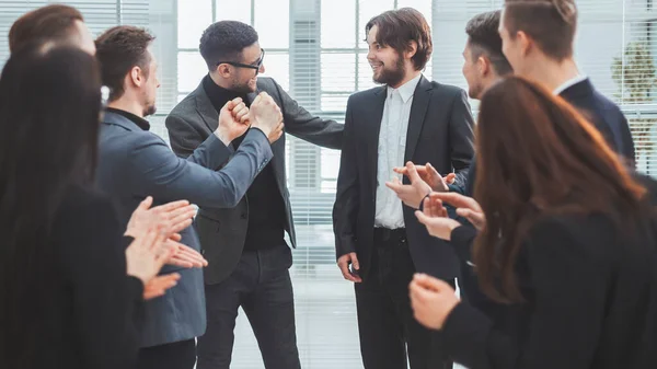
[[[288, 95], [276, 81], [258, 77], [257, 92], [249, 94], [253, 101], [257, 93], [267, 92], [283, 112], [285, 131], [309, 142], [331, 149], [341, 149], [343, 125], [313, 116]], [[173, 151], [182, 158], [194, 152], [217, 128], [218, 113], [203, 88], [198, 88], [181, 101], [166, 117], [166, 128]], [[242, 143], [243, 145], [243, 143]], [[272, 145], [272, 166], [276, 184], [286, 208], [285, 229], [296, 246], [295, 224], [285, 171], [285, 135]], [[232, 159], [231, 159], [232, 163]], [[212, 209], [200, 206], [195, 227], [209, 265], [205, 268], [206, 284], [219, 284], [235, 268], [249, 224], [249, 199], [246, 196], [232, 209]]]

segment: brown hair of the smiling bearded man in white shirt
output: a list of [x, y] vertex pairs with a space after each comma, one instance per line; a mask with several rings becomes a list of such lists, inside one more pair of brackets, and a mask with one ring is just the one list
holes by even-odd
[[408, 44], [417, 43], [417, 50], [413, 56], [415, 70], [426, 67], [434, 44], [431, 43], [431, 27], [420, 12], [413, 8], [389, 10], [372, 18], [365, 26], [365, 36], [373, 26], [378, 26], [377, 43], [381, 46], [390, 46], [397, 54], [408, 50]]

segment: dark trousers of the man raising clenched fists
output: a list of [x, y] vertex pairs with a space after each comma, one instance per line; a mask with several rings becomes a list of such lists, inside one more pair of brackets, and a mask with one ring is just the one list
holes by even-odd
[[193, 369], [196, 362], [194, 339], [139, 349], [136, 369]]

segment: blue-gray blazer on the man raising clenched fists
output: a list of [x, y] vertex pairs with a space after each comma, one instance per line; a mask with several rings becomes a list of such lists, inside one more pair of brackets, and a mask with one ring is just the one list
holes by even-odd
[[[124, 224], [149, 195], [153, 196], [153, 206], [187, 199], [200, 206], [234, 207], [272, 159], [267, 138], [261, 130], [253, 129], [234, 154], [210, 135], [187, 160], [183, 160], [157, 135], [108, 112], [101, 125], [99, 143], [96, 180], [102, 189], [113, 195]], [[230, 164], [217, 172], [231, 154]], [[193, 227], [181, 234], [182, 243], [200, 250]], [[140, 322], [141, 347], [191, 339], [205, 333], [201, 270], [173, 266], [162, 269], [162, 274], [173, 272], [182, 277], [177, 286], [146, 303], [146, 314]]]

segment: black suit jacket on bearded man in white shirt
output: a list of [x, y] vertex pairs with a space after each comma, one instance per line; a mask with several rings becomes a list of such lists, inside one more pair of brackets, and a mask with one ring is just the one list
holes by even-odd
[[[360, 275], [367, 278], [373, 246], [378, 145], [387, 87], [349, 97], [345, 118], [337, 198], [333, 209], [337, 257], [358, 254]], [[404, 162], [430, 162], [440, 173], [456, 171], [463, 184], [473, 154], [473, 119], [461, 89], [420, 78], [411, 107]], [[400, 163], [402, 164], [402, 163]], [[404, 183], [408, 183], [404, 178]], [[458, 260], [449, 244], [433, 238], [414, 215], [403, 208], [408, 247], [418, 272], [454, 278]]]

